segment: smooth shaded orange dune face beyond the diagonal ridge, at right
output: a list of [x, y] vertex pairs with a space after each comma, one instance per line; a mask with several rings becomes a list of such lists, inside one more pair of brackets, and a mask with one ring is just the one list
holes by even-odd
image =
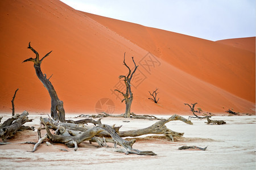
[[[248, 52], [162, 29], [85, 14], [171, 65], [255, 103], [255, 47], [253, 52]], [[255, 46], [250, 38], [242, 43]]]

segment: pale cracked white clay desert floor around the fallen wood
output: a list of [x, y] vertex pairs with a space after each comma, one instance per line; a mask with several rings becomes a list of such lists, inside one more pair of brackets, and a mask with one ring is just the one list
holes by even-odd
[[[2, 121], [8, 116], [6, 114]], [[42, 115], [43, 117], [46, 114]], [[73, 119], [74, 114], [66, 116]], [[39, 124], [40, 115], [29, 115]], [[158, 116], [168, 117], [168, 116]], [[187, 116], [183, 116], [188, 118]], [[123, 122], [122, 118], [103, 118], [102, 124], [123, 125], [120, 130], [146, 128], [156, 121], [133, 120]], [[34, 145], [9, 144], [0, 146], [0, 169], [255, 169], [255, 116], [215, 116], [212, 120], [224, 120], [225, 125], [206, 125], [205, 120], [192, 119], [193, 125], [181, 121], [171, 121], [169, 129], [184, 132], [188, 141], [170, 142], [144, 140], [137, 141], [133, 148], [154, 151], [156, 156], [125, 155], [114, 152], [113, 147], [97, 147], [85, 141], [75, 152], [73, 148], [58, 144], [47, 146], [42, 143], [38, 150]], [[36, 131], [19, 132], [9, 142], [37, 142]], [[178, 150], [179, 147], [206, 147], [201, 150]], [[109, 145], [113, 146], [113, 145]], [[66, 148], [68, 152], [58, 148]]]

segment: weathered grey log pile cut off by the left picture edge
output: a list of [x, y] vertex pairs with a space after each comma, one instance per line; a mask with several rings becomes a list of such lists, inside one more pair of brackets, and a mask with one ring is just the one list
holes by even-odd
[[3, 142], [6, 142], [6, 139], [14, 137], [16, 131], [22, 128], [22, 125], [26, 122], [31, 122], [32, 119], [29, 119], [28, 112], [24, 111], [22, 114], [16, 114], [14, 117], [7, 119], [0, 126], [0, 137]]

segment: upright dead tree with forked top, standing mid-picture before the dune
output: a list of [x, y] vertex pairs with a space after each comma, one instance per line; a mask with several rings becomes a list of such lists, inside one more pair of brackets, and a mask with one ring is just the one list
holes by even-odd
[[[131, 57], [133, 58], [133, 57]], [[133, 102], [133, 93], [131, 92], [131, 78], [133, 78], [133, 75], [135, 73], [135, 71], [137, 70], [137, 65], [136, 63], [134, 62], [134, 59], [133, 59], [133, 63], [134, 63], [134, 70], [133, 72], [131, 72], [131, 69], [129, 66], [126, 65], [125, 63], [125, 54], [123, 56], [123, 65], [125, 65], [127, 67], [127, 69], [129, 70], [129, 73], [127, 76], [125, 75], [119, 75], [119, 79], [122, 79], [123, 78], [123, 81], [125, 82], [125, 86], [126, 86], [126, 92], [123, 93], [117, 89], [115, 89], [115, 91], [118, 91], [119, 93], [121, 93], [124, 97], [124, 99], [122, 100], [125, 101], [125, 104], [126, 104], [126, 108], [125, 108], [125, 117], [129, 117], [131, 116], [131, 103]]]

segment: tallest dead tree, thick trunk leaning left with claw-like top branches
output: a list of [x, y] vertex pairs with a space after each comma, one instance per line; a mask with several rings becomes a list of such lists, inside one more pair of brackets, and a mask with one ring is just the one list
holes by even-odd
[[[52, 83], [49, 81], [49, 78], [46, 78], [46, 74], [43, 74], [41, 71], [41, 63], [44, 58], [49, 56], [49, 54], [52, 52], [49, 52], [44, 56], [42, 59], [39, 59], [39, 54], [36, 52], [34, 48], [30, 46], [30, 42], [28, 43], [28, 49], [31, 49], [32, 52], [36, 54], [35, 58], [28, 58], [24, 60], [23, 62], [32, 61], [34, 62], [35, 72], [38, 76], [39, 80], [43, 83], [44, 87], [46, 87], [47, 91], [49, 92], [49, 95], [51, 97], [51, 117], [54, 120], [59, 120], [61, 122], [65, 122], [65, 110], [63, 108], [63, 101], [59, 99], [57, 96], [57, 93], [55, 89], [52, 86]], [[50, 77], [51, 78], [51, 77]]]

